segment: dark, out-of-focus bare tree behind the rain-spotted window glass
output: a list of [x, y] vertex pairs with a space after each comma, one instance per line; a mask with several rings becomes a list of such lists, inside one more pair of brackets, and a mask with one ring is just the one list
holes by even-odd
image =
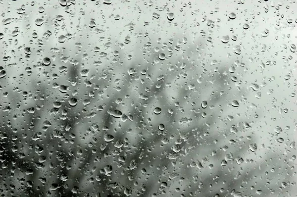
[[77, 56], [21, 49], [26, 73], [0, 79], [1, 193], [241, 197], [287, 186], [282, 152], [257, 153], [257, 116], [241, 112], [240, 62], [206, 58], [203, 42], [169, 44], [136, 45], [128, 59], [83, 43]]

